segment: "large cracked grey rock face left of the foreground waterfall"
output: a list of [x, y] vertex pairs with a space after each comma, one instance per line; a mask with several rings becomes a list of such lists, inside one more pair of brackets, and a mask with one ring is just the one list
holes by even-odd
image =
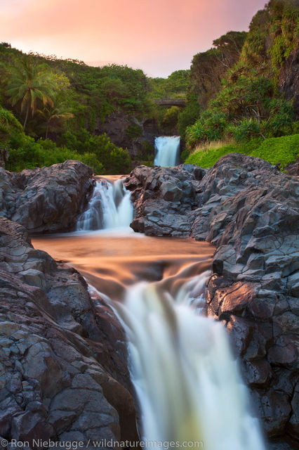
[[74, 269], [0, 219], [0, 435], [135, 439], [126, 344], [113, 311]]

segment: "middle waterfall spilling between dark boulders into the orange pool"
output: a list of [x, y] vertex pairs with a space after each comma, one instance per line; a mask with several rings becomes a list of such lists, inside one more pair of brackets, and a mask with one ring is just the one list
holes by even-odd
[[131, 192], [121, 179], [102, 178], [96, 181], [87, 209], [77, 221], [77, 231], [128, 227], [132, 220]]

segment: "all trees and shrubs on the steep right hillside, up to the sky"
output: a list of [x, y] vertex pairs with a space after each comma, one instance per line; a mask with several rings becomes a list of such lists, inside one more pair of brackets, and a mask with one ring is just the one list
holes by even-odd
[[[223, 78], [222, 89], [215, 98], [211, 84], [219, 84], [210, 72], [220, 49], [226, 54], [225, 42], [230, 33], [214, 41], [216, 49], [194, 57], [189, 89], [198, 93], [199, 103], [207, 109], [186, 129], [189, 148], [215, 139], [232, 137], [245, 142], [258, 136], [266, 139], [294, 132], [293, 105], [279, 93], [278, 80], [286, 59], [298, 48], [298, 14], [296, 0], [270, 0], [264, 10], [255, 14], [247, 36], [239, 36], [238, 62], [218, 72]], [[238, 51], [232, 53], [234, 58]], [[208, 105], [207, 96], [212, 98]]]

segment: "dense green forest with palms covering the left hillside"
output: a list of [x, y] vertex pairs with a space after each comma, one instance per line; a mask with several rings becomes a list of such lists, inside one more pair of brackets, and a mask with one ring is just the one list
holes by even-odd
[[[128, 172], [128, 151], [114, 146], [106, 135], [95, 136], [96, 126], [98, 119], [104, 122], [114, 111], [128, 117], [151, 113], [148, 91], [142, 70], [121, 65], [93, 68], [77, 60], [25, 55], [0, 44], [0, 101], [12, 110], [11, 120], [22, 120], [34, 137], [29, 139], [20, 129], [17, 133], [2, 113], [0, 139], [10, 147], [10, 167], [17, 170], [75, 158], [101, 174]], [[138, 125], [126, 131], [131, 139], [142, 132]], [[47, 155], [48, 136], [54, 142]]]

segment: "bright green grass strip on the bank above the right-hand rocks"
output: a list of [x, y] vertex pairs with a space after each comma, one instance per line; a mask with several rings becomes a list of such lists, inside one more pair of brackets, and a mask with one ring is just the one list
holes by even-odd
[[212, 167], [222, 156], [227, 153], [244, 153], [245, 155], [263, 158], [271, 164], [280, 163], [284, 169], [289, 162], [293, 162], [299, 155], [299, 134], [270, 138], [261, 141], [252, 139], [246, 143], [235, 143], [233, 141], [215, 141], [196, 148], [185, 160], [186, 163], [200, 167]]

